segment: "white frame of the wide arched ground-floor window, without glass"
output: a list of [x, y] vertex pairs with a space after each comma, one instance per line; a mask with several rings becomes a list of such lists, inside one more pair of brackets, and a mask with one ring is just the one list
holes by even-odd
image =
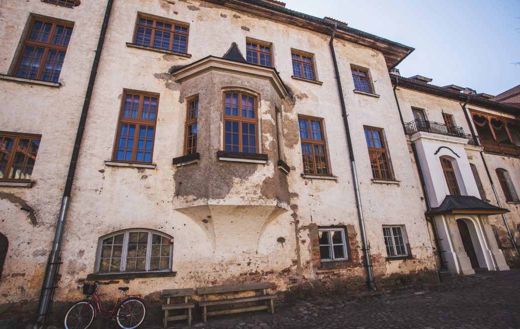
[[[148, 233], [148, 241], [147, 241], [147, 248], [146, 248], [146, 265], [145, 270], [132, 270], [132, 271], [125, 271], [126, 268], [126, 256], [128, 254], [128, 240], [130, 233], [139, 233], [144, 232]], [[121, 266], [119, 271], [103, 271], [100, 272], [99, 268], [101, 266], [101, 255], [102, 255], [102, 248], [103, 248], [103, 240], [106, 240], [108, 238], [111, 238], [115, 235], [124, 234], [123, 236], [123, 249], [121, 252]], [[163, 238], [170, 239], [170, 260], [168, 261], [168, 268], [167, 269], [161, 269], [161, 270], [150, 270], [150, 258], [152, 253], [152, 234], [159, 235]], [[97, 249], [97, 256], [96, 256], [96, 271], [95, 273], [99, 274], [111, 274], [111, 273], [144, 273], [144, 272], [170, 272], [172, 271], [172, 262], [173, 262], [173, 238], [170, 235], [164, 234], [159, 231], [155, 230], [143, 230], [143, 229], [129, 229], [129, 230], [122, 230], [118, 232], [113, 232], [104, 236], [101, 236], [98, 241], [98, 249]]]

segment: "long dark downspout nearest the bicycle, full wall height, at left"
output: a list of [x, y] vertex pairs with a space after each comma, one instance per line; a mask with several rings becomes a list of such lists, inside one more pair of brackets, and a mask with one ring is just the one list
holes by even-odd
[[92, 64], [92, 71], [90, 71], [90, 77], [88, 80], [87, 91], [85, 94], [85, 100], [83, 102], [83, 109], [81, 112], [80, 123], [77, 127], [76, 139], [74, 141], [74, 149], [69, 165], [69, 173], [67, 175], [67, 182], [63, 191], [63, 197], [61, 200], [61, 207], [56, 223], [56, 231], [54, 234], [53, 247], [49, 253], [49, 261], [45, 268], [45, 277], [42, 284], [42, 291], [40, 295], [40, 302], [38, 305], [38, 314], [36, 315], [36, 321], [33, 324], [33, 329], [40, 329], [44, 326], [47, 321], [48, 314], [50, 312], [51, 301], [53, 298], [53, 291], [55, 289], [56, 274], [59, 266], [60, 259], [60, 248], [61, 240], [63, 237], [63, 229], [65, 221], [67, 219], [67, 210], [69, 208], [70, 194], [72, 190], [72, 182], [74, 180], [74, 174], [76, 172], [77, 158], [80, 154], [81, 141], [83, 139], [83, 131], [85, 130], [85, 123], [87, 120], [88, 108], [90, 106], [90, 97], [92, 97], [92, 90], [96, 81], [96, 74], [99, 66], [99, 59], [101, 57], [101, 50], [103, 49], [103, 43], [105, 42], [105, 34], [107, 32], [108, 21], [112, 11], [113, 0], [108, 0], [107, 9], [105, 10], [105, 18], [103, 18], [103, 24], [101, 26], [101, 32], [99, 34], [98, 45], [96, 49], [96, 55], [94, 56], [94, 62]]

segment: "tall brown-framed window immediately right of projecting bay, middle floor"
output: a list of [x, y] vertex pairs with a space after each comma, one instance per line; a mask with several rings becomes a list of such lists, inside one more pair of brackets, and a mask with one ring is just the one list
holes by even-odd
[[303, 173], [329, 176], [327, 142], [323, 138], [322, 120], [298, 116], [302, 141]]

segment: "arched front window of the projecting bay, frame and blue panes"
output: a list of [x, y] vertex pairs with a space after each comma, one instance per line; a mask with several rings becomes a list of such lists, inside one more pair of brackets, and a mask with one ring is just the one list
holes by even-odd
[[224, 151], [258, 153], [256, 97], [224, 94]]

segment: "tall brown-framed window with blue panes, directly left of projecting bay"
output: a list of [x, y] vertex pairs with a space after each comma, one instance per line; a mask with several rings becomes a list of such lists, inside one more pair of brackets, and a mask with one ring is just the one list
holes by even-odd
[[158, 96], [124, 93], [114, 161], [152, 162], [158, 104]]

